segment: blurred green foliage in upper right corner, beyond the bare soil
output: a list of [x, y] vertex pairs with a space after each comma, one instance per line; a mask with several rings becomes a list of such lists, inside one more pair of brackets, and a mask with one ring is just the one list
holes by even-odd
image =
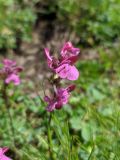
[[109, 45], [120, 35], [120, 0], [60, 0], [56, 5], [59, 19], [68, 23], [83, 43]]

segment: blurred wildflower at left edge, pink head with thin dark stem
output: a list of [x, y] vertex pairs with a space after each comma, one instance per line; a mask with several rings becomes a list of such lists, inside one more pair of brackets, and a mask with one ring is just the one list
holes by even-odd
[[[9, 96], [7, 94], [7, 88], [10, 83], [13, 83], [15, 86], [20, 84], [20, 77], [19, 77], [19, 72], [23, 70], [22, 67], [17, 67], [17, 64], [15, 61], [12, 61], [10, 59], [4, 59], [2, 62], [2, 67], [0, 68], [0, 80], [2, 81], [2, 97], [4, 99], [6, 111], [8, 113], [8, 118], [9, 118], [9, 125], [11, 127], [11, 133], [12, 133], [12, 138], [13, 138], [13, 145], [16, 145], [15, 142], [15, 130], [14, 130], [14, 125], [13, 125], [13, 120], [12, 120], [12, 115], [10, 113], [10, 107], [11, 103], [9, 100]], [[1, 149], [1, 154], [5, 153], [7, 150], [6, 149]], [[9, 159], [2, 159], [2, 160], [9, 160]]]

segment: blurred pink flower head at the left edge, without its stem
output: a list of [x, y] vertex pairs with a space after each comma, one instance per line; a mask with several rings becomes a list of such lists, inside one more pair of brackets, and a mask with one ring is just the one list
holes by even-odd
[[9, 59], [4, 59], [3, 65], [3, 68], [0, 70], [0, 75], [4, 78], [5, 83], [9, 84], [10, 82], [13, 82], [14, 85], [19, 85], [20, 78], [18, 73], [23, 69], [21, 67], [16, 67], [16, 62]]

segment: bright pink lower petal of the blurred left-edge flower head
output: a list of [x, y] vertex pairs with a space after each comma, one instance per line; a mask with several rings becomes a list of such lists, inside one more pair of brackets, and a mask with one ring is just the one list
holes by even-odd
[[5, 83], [9, 84], [10, 82], [13, 82], [15, 85], [20, 84], [20, 78], [16, 74], [11, 74], [6, 78]]

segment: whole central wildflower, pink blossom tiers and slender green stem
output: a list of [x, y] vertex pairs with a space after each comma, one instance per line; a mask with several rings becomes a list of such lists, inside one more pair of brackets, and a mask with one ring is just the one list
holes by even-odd
[[54, 160], [55, 157], [53, 154], [53, 148], [51, 147], [52, 133], [50, 130], [51, 120], [52, 117], [54, 119], [54, 116], [52, 116], [51, 112], [53, 112], [54, 110], [59, 110], [65, 104], [67, 104], [69, 101], [70, 93], [75, 89], [74, 84], [69, 85], [68, 87], [60, 87], [61, 86], [60, 82], [62, 79], [70, 81], [75, 81], [78, 79], [79, 71], [75, 67], [75, 62], [78, 60], [80, 49], [75, 48], [71, 42], [66, 42], [62, 47], [58, 58], [51, 56], [48, 48], [45, 48], [44, 51], [48, 67], [53, 72], [53, 79], [51, 84], [53, 86], [53, 95], [52, 96], [45, 95], [44, 101], [48, 103], [46, 110], [50, 112], [48, 119], [49, 155], [50, 158]]

